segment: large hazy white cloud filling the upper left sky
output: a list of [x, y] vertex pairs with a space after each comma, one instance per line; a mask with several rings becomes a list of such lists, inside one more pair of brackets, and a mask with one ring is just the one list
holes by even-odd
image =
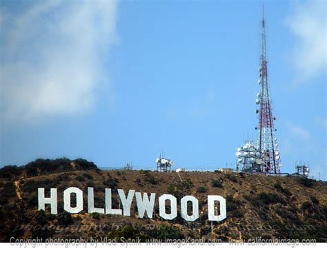
[[34, 121], [90, 110], [97, 90], [108, 85], [104, 61], [117, 42], [117, 2], [21, 6], [1, 8], [3, 119]]

